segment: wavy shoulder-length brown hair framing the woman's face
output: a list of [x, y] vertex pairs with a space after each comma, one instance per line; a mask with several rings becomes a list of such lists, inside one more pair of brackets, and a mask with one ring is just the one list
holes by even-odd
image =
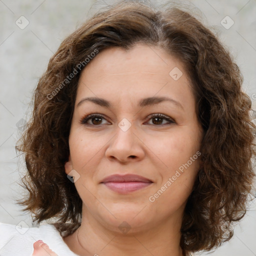
[[[16, 144], [27, 168], [22, 183], [28, 194], [19, 203], [37, 223], [55, 219], [62, 236], [80, 225], [82, 201], [64, 163], [81, 71], [64, 85], [63, 81], [92, 52], [130, 49], [138, 42], [161, 46], [177, 57], [190, 78], [204, 137], [202, 164], [183, 214], [180, 246], [184, 253], [210, 250], [232, 236], [229, 224], [246, 212], [256, 155], [251, 100], [242, 92], [238, 66], [216, 36], [192, 14], [169, 5], [156, 10], [135, 1], [116, 3], [62, 41], [38, 81], [32, 117]], [[59, 84], [62, 88], [52, 96]]]

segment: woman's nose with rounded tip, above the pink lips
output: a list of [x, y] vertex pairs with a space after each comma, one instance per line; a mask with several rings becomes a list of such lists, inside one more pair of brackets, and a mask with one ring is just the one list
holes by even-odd
[[119, 126], [116, 127], [115, 135], [110, 140], [105, 151], [105, 156], [109, 160], [129, 162], [138, 161], [144, 157], [143, 142], [134, 133], [135, 129], [133, 125], [126, 131], [122, 130]]

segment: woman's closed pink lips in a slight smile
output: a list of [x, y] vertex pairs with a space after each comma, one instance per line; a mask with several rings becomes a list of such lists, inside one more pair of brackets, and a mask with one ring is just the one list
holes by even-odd
[[135, 174], [113, 174], [105, 177], [100, 183], [103, 183], [109, 189], [118, 193], [129, 193], [142, 189], [153, 182], [143, 176]]

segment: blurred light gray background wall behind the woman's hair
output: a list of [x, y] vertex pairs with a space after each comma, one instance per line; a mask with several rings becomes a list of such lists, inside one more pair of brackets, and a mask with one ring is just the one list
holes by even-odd
[[[32, 91], [60, 42], [88, 14], [91, 16], [101, 5], [105, 5], [103, 0], [95, 2], [0, 0], [0, 222], [16, 225], [24, 221], [32, 226], [30, 215], [24, 214], [15, 205], [15, 199], [24, 192], [17, 185], [20, 177], [14, 149], [19, 136], [17, 123], [22, 118], [28, 120], [25, 113]], [[105, 2], [110, 3], [109, 0]], [[256, 109], [256, 1], [193, 0], [190, 3], [199, 8], [203, 23], [218, 32], [219, 38], [236, 59], [244, 75], [244, 91], [251, 97]], [[24, 29], [15, 24], [21, 15], [29, 21]], [[226, 15], [234, 21], [229, 29], [220, 23]], [[20, 172], [24, 170], [21, 160], [19, 168]], [[235, 226], [234, 233], [229, 242], [210, 255], [256, 255], [255, 199], [246, 216]]]

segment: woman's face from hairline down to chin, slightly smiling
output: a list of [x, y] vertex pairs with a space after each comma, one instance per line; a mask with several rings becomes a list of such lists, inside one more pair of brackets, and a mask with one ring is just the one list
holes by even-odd
[[[97, 116], [86, 120], [89, 114]], [[144, 44], [99, 52], [79, 79], [65, 163], [83, 202], [82, 218], [113, 230], [180, 223], [201, 139], [181, 62]], [[151, 182], [102, 183], [112, 174]]]

